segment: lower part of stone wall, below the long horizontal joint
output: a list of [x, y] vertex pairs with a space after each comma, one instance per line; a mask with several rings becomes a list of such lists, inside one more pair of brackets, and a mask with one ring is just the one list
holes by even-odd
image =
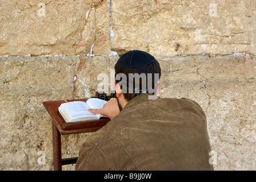
[[[162, 68], [160, 96], [191, 98], [205, 110], [217, 154], [214, 169], [255, 170], [256, 57], [155, 57]], [[102, 81], [98, 76], [106, 73], [110, 79], [117, 59], [0, 57], [0, 169], [53, 169], [51, 119], [42, 102], [94, 96]], [[77, 156], [90, 134], [62, 136], [63, 158]], [[38, 163], [40, 151], [45, 164]], [[63, 169], [73, 170], [74, 165]]]

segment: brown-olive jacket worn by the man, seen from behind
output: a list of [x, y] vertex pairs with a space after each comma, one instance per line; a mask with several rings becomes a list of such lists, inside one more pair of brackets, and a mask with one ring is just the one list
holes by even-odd
[[213, 170], [202, 108], [148, 96], [133, 98], [82, 144], [77, 170]]

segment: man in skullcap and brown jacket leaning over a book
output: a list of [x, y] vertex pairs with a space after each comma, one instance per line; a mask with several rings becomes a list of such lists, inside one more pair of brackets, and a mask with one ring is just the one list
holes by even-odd
[[[143, 73], [146, 81], [137, 79]], [[111, 121], [82, 144], [77, 170], [213, 170], [205, 113], [189, 99], [157, 97], [161, 68], [153, 56], [127, 52], [115, 75], [117, 99], [90, 110]]]

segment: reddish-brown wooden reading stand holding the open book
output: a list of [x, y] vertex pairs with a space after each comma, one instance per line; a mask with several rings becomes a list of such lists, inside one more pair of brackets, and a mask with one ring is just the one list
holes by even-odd
[[62, 165], [74, 164], [77, 158], [62, 159], [61, 156], [61, 135], [78, 134], [94, 132], [101, 129], [110, 121], [109, 118], [97, 119], [91, 121], [65, 122], [61, 114], [58, 112], [58, 107], [65, 102], [84, 101], [88, 98], [79, 100], [61, 100], [61, 101], [45, 101], [43, 106], [49, 113], [53, 128], [53, 167], [54, 171], [61, 171]]

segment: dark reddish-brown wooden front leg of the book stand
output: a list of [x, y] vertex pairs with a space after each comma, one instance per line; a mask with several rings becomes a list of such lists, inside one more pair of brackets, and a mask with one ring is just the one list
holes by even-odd
[[61, 156], [61, 133], [51, 122], [53, 127], [53, 169], [54, 171], [62, 171], [62, 156]]

